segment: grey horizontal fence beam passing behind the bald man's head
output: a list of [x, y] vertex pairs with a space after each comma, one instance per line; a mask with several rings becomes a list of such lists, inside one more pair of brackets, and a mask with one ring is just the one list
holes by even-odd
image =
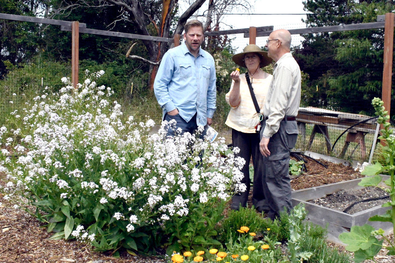
[[[339, 26], [318, 26], [309, 28], [298, 28], [288, 30], [291, 35], [297, 34], [311, 34], [311, 33], [323, 33], [323, 32], [337, 32], [337, 31], [349, 31], [349, 30], [363, 30], [363, 29], [375, 29], [384, 28], [384, 22], [371, 22], [371, 23], [360, 23], [360, 24], [342, 24]], [[256, 32], [257, 37], [269, 36], [273, 31]], [[245, 38], [249, 38], [250, 34], [244, 33]]]

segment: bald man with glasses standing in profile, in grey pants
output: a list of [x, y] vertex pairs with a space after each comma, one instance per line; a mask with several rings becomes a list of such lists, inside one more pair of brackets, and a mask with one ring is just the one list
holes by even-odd
[[291, 34], [275, 30], [266, 41], [267, 55], [276, 62], [273, 79], [263, 108], [265, 122], [259, 144], [263, 155], [263, 192], [265, 204], [258, 211], [274, 220], [286, 209], [292, 209], [291, 181], [288, 167], [290, 150], [297, 139], [297, 116], [301, 96], [301, 72], [290, 53]]

